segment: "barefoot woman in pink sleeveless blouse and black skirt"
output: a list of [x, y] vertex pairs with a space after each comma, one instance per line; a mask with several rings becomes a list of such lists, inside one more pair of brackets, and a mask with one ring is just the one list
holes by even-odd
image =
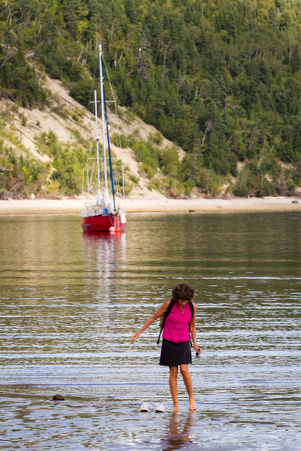
[[[193, 347], [197, 354], [203, 352], [196, 344], [196, 332], [195, 332], [195, 313], [196, 305], [193, 304], [193, 315], [191, 316], [191, 308], [189, 301], [194, 298], [194, 289], [187, 283], [181, 283], [172, 290], [172, 299], [175, 301], [171, 312], [166, 318], [164, 323], [163, 335], [162, 335], [162, 348], [160, 356], [160, 365], [169, 367], [169, 387], [173, 400], [173, 409], [175, 411], [180, 410], [178, 403], [178, 366], [180, 365], [180, 372], [183, 377], [187, 393], [189, 395], [189, 410], [196, 410], [192, 379], [188, 371], [188, 364], [191, 364], [191, 352], [189, 343], [189, 329], [193, 341]], [[161, 307], [154, 313], [141, 327], [139, 332], [131, 336], [131, 340], [134, 341], [145, 331], [156, 319], [164, 317], [169, 304], [172, 299], [164, 302]]]

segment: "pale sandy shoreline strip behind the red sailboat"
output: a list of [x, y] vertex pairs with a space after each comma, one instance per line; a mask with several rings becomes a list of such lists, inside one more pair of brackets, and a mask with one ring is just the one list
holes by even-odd
[[[292, 203], [297, 201], [298, 203]], [[0, 215], [79, 214], [85, 203], [94, 199], [12, 199], [0, 200]], [[301, 212], [301, 199], [284, 197], [229, 198], [229, 199], [173, 199], [133, 198], [116, 199], [116, 205], [125, 205], [127, 213], [150, 212]]]

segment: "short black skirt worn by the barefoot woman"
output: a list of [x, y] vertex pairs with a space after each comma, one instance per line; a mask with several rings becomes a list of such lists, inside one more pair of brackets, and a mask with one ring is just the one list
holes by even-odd
[[191, 363], [192, 360], [189, 340], [175, 343], [174, 341], [169, 341], [162, 338], [160, 365], [178, 366]]

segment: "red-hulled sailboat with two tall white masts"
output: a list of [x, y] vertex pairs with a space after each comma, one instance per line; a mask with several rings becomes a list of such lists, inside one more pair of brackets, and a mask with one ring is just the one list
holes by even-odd
[[[113, 180], [113, 170], [112, 170], [112, 158], [109, 140], [109, 129], [107, 120], [107, 105], [106, 105], [106, 95], [104, 88], [104, 78], [102, 71], [102, 45], [99, 42], [98, 46], [99, 53], [99, 70], [100, 70], [100, 92], [101, 92], [101, 118], [102, 118], [102, 158], [99, 155], [99, 141], [100, 137], [98, 135], [98, 114], [97, 114], [97, 91], [94, 90], [94, 108], [95, 108], [95, 141], [96, 141], [96, 161], [97, 161], [97, 195], [96, 202], [86, 203], [85, 207], [81, 212], [81, 225], [85, 232], [108, 232], [108, 231], [123, 231], [126, 224], [125, 208], [120, 208], [116, 206], [115, 202], [115, 189]], [[105, 126], [106, 120], [106, 126]], [[111, 190], [113, 202], [110, 201], [110, 194], [108, 189], [107, 181], [107, 149], [106, 149], [106, 130], [107, 130], [107, 144], [108, 144], [108, 160], [109, 160], [109, 170], [111, 179]], [[101, 179], [100, 179], [100, 161], [102, 162], [102, 169], [104, 175], [104, 191], [101, 192]], [[95, 160], [94, 160], [95, 162]], [[94, 163], [93, 163], [94, 168]], [[93, 170], [93, 169], [92, 169]], [[93, 174], [92, 174], [93, 175]], [[88, 170], [87, 170], [88, 179]], [[91, 176], [92, 179], [92, 176]], [[124, 179], [123, 183], [123, 193], [124, 193]]]

